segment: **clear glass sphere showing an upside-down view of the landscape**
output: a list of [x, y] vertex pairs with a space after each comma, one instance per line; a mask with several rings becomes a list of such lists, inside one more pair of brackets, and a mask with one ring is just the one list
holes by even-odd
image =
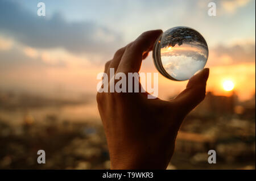
[[208, 46], [202, 35], [189, 27], [174, 27], [159, 36], [154, 45], [156, 69], [169, 79], [185, 81], [204, 68]]

